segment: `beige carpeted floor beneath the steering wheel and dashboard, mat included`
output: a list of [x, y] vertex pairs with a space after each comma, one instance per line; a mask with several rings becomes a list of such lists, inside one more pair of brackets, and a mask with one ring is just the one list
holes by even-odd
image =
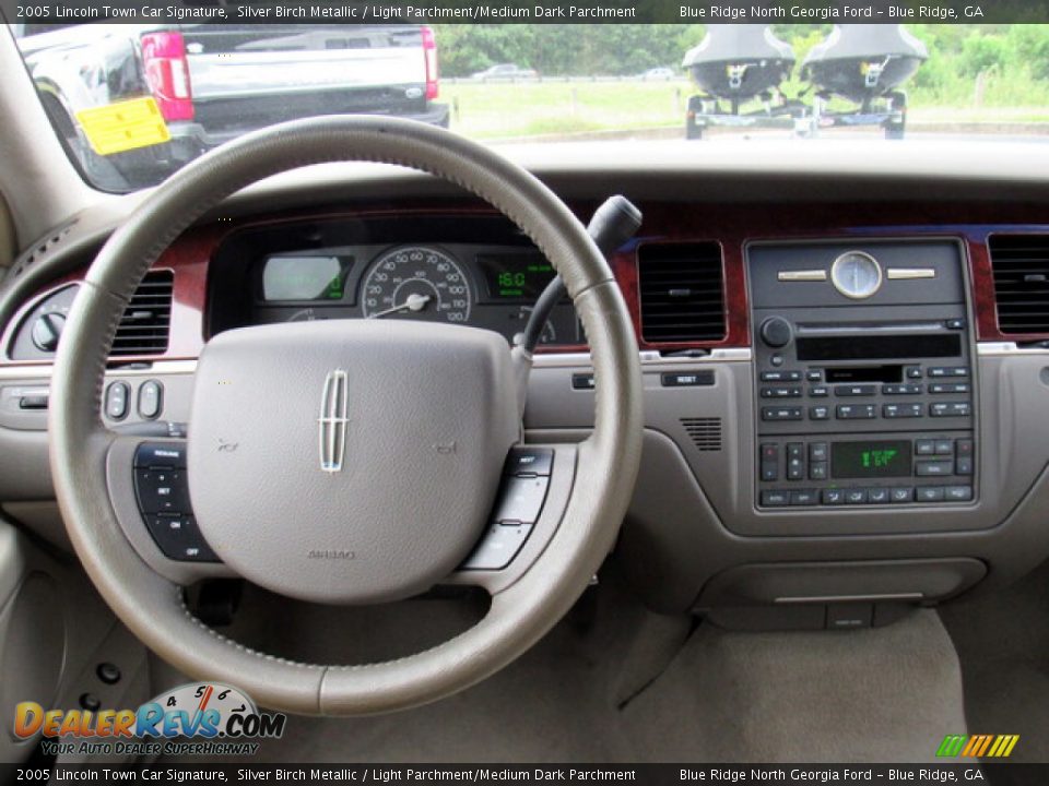
[[[377, 642], [402, 652], [445, 635], [478, 612], [448, 600], [376, 614], [259, 596], [232, 632], [349, 663], [380, 654]], [[486, 682], [397, 715], [290, 718], [257, 760], [928, 761], [944, 734], [965, 730], [957, 659], [934, 611], [865, 631], [693, 627], [646, 611], [612, 576]]]

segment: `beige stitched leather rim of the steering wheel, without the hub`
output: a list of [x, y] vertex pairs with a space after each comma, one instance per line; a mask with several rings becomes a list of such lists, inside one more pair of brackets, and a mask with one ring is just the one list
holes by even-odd
[[[117, 324], [142, 277], [199, 217], [258, 180], [313, 164], [378, 162], [453, 182], [520, 227], [564, 279], [597, 380], [596, 420], [579, 445], [571, 495], [545, 550], [487, 615], [436, 647], [362, 666], [294, 663], [233, 642], [195, 618], [182, 588], [154, 572], [125, 536], [107, 490], [117, 437], [101, 418]], [[537, 178], [479, 144], [414, 121], [325, 117], [247, 134], [160, 186], [98, 253], [69, 314], [51, 381], [50, 464], [70, 539], [116, 615], [150, 648], [197, 679], [231, 682], [264, 706], [361, 715], [423, 704], [514, 660], [556, 623], [610, 551], [641, 444], [636, 337], [612, 273], [582, 225]]]

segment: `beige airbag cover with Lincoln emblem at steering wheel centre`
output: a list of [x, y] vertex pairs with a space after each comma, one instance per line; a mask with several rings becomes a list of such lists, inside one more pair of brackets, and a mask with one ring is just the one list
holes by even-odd
[[243, 576], [292, 597], [423, 592], [484, 531], [519, 434], [515, 396], [506, 341], [488, 331], [339, 320], [222, 333], [190, 418], [200, 529]]

